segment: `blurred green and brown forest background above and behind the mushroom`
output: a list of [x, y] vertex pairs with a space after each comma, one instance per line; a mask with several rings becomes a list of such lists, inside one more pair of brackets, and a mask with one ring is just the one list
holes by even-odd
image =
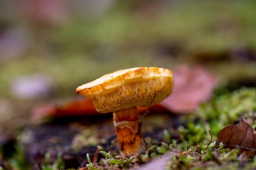
[[[202, 65], [256, 83], [254, 0], [2, 0], [0, 117], [68, 102], [118, 69]], [[21, 120], [19, 120], [21, 122]]]

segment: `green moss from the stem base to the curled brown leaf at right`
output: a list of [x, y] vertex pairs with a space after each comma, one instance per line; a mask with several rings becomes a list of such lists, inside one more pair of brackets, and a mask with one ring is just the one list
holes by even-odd
[[[241, 116], [245, 116], [249, 121], [254, 122], [256, 111], [256, 89], [242, 88], [235, 92], [216, 96], [211, 101], [204, 103], [193, 116], [190, 116], [187, 127], [180, 127], [180, 138], [170, 140], [168, 131], [164, 130], [164, 140], [162, 146], [155, 145], [138, 157], [130, 159], [120, 156], [112, 157], [110, 153], [102, 152], [110, 166], [119, 168], [132, 168], [135, 165], [146, 163], [152, 159], [161, 157], [169, 151], [183, 151], [175, 154], [168, 161], [168, 170], [193, 169], [252, 169], [255, 167], [253, 154], [241, 153], [239, 149], [230, 150], [223, 148], [220, 143], [216, 148], [216, 135], [223, 127], [238, 122]], [[188, 120], [184, 118], [184, 120]], [[193, 121], [194, 120], [194, 121]], [[255, 123], [252, 123], [255, 124]], [[209, 125], [211, 137], [209, 139], [205, 131]], [[152, 144], [152, 143], [151, 143]], [[104, 166], [98, 164], [97, 166]]]

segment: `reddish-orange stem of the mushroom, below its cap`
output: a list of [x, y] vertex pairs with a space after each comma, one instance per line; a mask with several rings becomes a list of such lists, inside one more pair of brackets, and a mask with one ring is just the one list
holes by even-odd
[[141, 149], [141, 119], [137, 107], [113, 112], [113, 122], [117, 131], [119, 151], [130, 157]]

